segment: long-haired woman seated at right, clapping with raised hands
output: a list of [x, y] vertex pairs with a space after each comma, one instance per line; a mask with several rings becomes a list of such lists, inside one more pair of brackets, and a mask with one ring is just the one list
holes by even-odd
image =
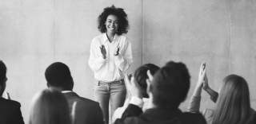
[[[215, 91], [209, 90], [208, 79], [206, 76], [206, 63], [201, 65], [198, 83], [194, 94], [190, 99], [188, 111], [198, 112], [201, 100], [201, 91], [205, 89], [208, 93]], [[244, 124], [254, 113], [250, 108], [250, 93], [246, 80], [241, 76], [230, 75], [223, 79], [219, 89], [219, 95], [214, 95], [217, 103], [214, 110], [203, 110], [202, 114], [208, 124]], [[213, 96], [213, 95], [211, 95]]]

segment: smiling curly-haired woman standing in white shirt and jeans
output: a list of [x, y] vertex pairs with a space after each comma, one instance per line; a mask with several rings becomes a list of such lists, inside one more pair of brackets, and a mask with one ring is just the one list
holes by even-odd
[[[98, 16], [98, 30], [102, 33], [90, 45], [89, 66], [94, 71], [94, 99], [102, 108], [104, 121], [109, 123], [114, 110], [126, 99], [124, 72], [133, 63], [127, 14], [122, 8], [106, 7]], [[110, 122], [111, 123], [111, 122]]]

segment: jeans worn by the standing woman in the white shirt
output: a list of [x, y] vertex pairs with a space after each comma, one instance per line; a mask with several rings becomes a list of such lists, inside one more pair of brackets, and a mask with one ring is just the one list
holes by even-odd
[[[114, 110], [118, 107], [122, 107], [126, 100], [126, 85], [123, 79], [110, 83], [97, 81], [94, 84], [94, 99], [102, 108], [104, 121], [108, 124], [109, 118], [114, 114]], [[109, 103], [111, 116], [109, 116]]]

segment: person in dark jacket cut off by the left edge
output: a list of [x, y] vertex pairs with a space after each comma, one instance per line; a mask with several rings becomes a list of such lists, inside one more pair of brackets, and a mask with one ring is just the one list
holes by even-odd
[[[0, 60], [0, 96], [6, 89], [6, 65]], [[21, 104], [10, 100], [10, 96], [7, 99], [0, 97], [0, 123], [2, 124], [24, 124], [22, 118]]]

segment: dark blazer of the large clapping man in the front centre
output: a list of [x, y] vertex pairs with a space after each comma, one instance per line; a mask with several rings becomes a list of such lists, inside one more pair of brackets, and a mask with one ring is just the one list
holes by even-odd
[[130, 104], [114, 124], [206, 124], [206, 120], [202, 114], [182, 113], [178, 108], [153, 108], [142, 113], [141, 108]]

